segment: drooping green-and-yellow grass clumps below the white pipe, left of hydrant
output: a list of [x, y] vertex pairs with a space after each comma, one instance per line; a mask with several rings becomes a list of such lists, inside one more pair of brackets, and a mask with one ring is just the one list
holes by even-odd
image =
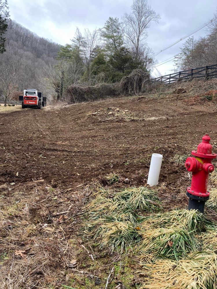
[[146, 187], [96, 188], [95, 199], [86, 206], [85, 233], [97, 240], [101, 248], [119, 248], [122, 253], [124, 248], [138, 242], [139, 213], [159, 211], [160, 200], [154, 190]]

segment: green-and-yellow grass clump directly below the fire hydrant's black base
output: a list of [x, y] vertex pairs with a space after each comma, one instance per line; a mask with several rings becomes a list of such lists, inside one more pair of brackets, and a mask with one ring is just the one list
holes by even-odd
[[187, 253], [199, 250], [201, 242], [196, 235], [217, 227], [196, 210], [174, 210], [152, 214], [140, 223], [139, 244], [141, 259], [148, 254], [179, 260]]

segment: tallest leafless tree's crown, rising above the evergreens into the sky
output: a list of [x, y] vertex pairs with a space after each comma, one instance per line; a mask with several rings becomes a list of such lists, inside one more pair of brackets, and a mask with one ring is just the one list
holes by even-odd
[[132, 13], [125, 13], [122, 18], [123, 31], [135, 53], [135, 58], [139, 59], [139, 50], [145, 46], [148, 35], [147, 29], [152, 21], [159, 22], [160, 15], [151, 8], [147, 0], [134, 0], [131, 9]]

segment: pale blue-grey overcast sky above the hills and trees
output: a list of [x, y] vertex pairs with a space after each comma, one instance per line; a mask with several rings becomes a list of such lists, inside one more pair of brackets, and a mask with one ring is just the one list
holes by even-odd
[[[133, 0], [8, 0], [11, 18], [41, 37], [62, 45], [70, 43], [76, 27], [103, 27], [109, 16], [121, 18], [130, 12]], [[216, 0], [150, 0], [152, 8], [161, 15], [159, 24], [148, 29], [148, 45], [159, 51], [209, 21], [216, 10]], [[195, 37], [204, 36], [206, 29]], [[179, 42], [160, 53], [162, 62], [179, 53]], [[157, 67], [165, 75], [173, 72], [173, 61]], [[154, 71], [156, 73], [156, 71]]]

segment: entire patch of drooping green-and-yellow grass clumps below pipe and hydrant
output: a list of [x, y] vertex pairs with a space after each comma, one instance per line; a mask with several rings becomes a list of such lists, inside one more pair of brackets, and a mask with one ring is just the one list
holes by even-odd
[[157, 194], [146, 187], [97, 185], [94, 197], [86, 206], [86, 236], [101, 249], [127, 253], [131, 247], [144, 277], [141, 289], [216, 288], [217, 224], [204, 214], [157, 212]]

